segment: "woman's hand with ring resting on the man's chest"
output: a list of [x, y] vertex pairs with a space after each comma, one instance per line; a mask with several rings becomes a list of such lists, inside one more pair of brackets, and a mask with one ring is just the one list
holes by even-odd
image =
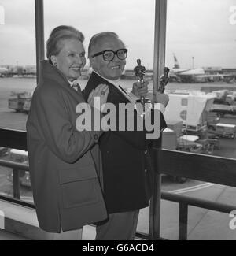
[[[107, 101], [108, 95], [109, 95], [109, 87], [106, 84], [99, 84], [98, 87], [95, 88], [95, 90], [90, 92], [87, 102], [90, 104], [90, 106], [92, 106], [96, 109], [99, 108], [99, 110], [100, 110], [101, 106], [103, 104], [105, 104], [105, 102]], [[97, 103], [96, 100], [94, 101], [95, 97], [100, 98], [100, 106], [98, 104], [96, 104]]]

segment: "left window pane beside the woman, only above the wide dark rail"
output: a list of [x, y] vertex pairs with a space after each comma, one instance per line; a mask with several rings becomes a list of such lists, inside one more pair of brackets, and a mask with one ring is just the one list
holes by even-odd
[[0, 7], [0, 128], [25, 130], [36, 85], [34, 1], [1, 0]]

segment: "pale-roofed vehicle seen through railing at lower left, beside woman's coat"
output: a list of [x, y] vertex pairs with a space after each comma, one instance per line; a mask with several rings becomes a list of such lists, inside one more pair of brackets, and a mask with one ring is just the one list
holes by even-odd
[[[24, 150], [9, 150], [9, 160], [28, 165], [28, 152]], [[12, 171], [9, 171], [8, 180], [13, 182]], [[25, 187], [31, 187], [29, 172], [20, 170], [20, 185]]]

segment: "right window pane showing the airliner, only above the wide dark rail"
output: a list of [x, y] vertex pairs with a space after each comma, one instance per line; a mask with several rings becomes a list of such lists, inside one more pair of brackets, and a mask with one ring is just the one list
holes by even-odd
[[236, 158], [234, 6], [233, 0], [168, 0], [165, 118], [177, 149]]

